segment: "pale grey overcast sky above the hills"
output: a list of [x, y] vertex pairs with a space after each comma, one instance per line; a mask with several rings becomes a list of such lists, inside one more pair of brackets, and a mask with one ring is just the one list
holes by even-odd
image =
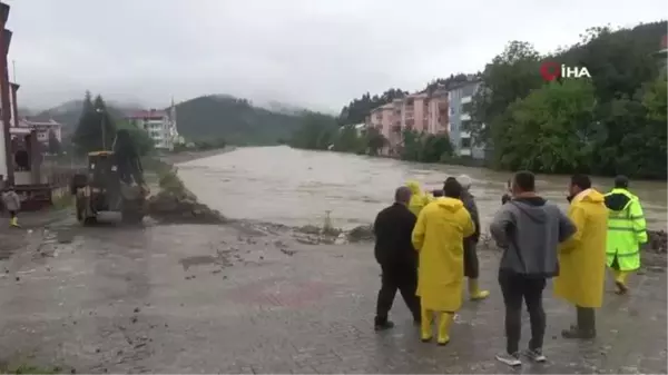
[[19, 105], [35, 109], [90, 89], [156, 107], [230, 93], [338, 111], [480, 70], [512, 39], [548, 52], [591, 26], [668, 19], [666, 0], [4, 1]]

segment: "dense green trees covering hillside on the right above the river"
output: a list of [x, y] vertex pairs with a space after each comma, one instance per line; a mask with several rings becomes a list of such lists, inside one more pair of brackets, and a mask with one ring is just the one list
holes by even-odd
[[[668, 80], [658, 51], [668, 22], [592, 28], [541, 56], [512, 41], [484, 69], [470, 130], [502, 169], [668, 178]], [[591, 79], [546, 82], [544, 61], [586, 67]]]

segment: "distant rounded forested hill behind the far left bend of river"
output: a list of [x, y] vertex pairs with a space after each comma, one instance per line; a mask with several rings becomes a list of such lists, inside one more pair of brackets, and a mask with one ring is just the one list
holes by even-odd
[[275, 145], [299, 127], [298, 114], [254, 107], [246, 99], [203, 96], [176, 106], [178, 131], [186, 139], [223, 138], [233, 145]]

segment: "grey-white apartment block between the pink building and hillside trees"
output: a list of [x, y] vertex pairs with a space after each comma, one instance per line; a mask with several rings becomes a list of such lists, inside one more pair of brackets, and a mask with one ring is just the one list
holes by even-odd
[[480, 86], [479, 79], [472, 79], [453, 85], [448, 91], [450, 141], [456, 155], [470, 156], [474, 159], [484, 158], [484, 147], [475, 145], [469, 128], [471, 124], [470, 106]]

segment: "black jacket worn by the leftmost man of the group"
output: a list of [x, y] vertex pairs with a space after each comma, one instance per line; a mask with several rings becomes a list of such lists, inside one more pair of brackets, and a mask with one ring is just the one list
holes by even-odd
[[411, 236], [418, 218], [401, 204], [394, 204], [379, 213], [373, 224], [376, 241], [375, 258], [381, 265], [406, 264], [418, 261]]

